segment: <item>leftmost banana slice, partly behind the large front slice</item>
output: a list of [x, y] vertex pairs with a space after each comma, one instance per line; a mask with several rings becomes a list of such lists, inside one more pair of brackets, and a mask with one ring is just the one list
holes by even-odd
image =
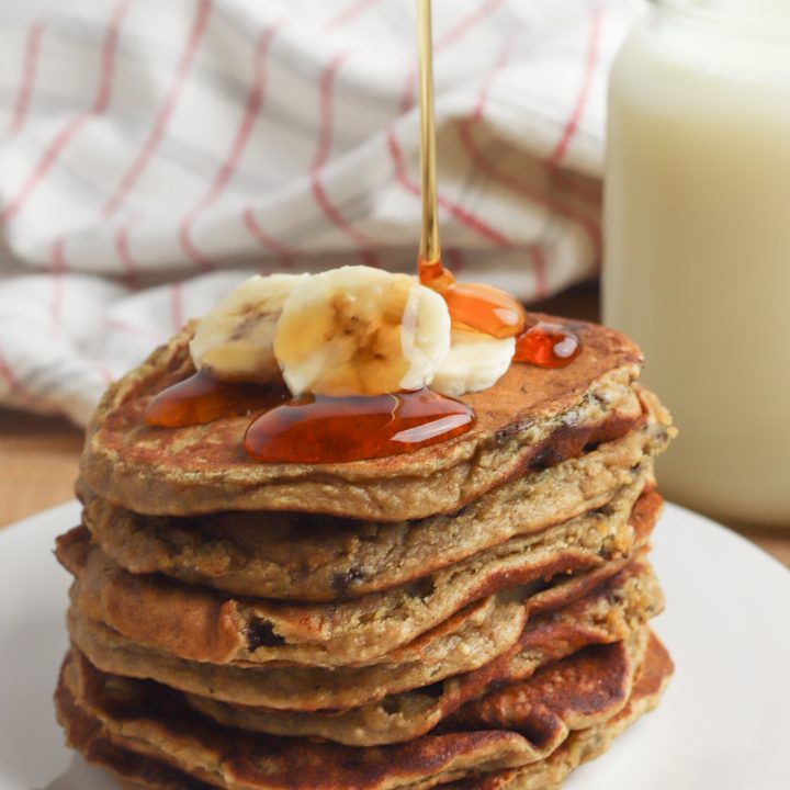
[[198, 321], [190, 342], [195, 368], [219, 381], [281, 381], [274, 330], [285, 300], [306, 280], [309, 274], [245, 280]]

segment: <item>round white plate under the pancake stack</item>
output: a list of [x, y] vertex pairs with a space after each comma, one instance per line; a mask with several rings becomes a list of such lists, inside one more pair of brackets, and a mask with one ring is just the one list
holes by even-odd
[[[63, 745], [52, 692], [66, 650], [68, 576], [52, 555], [76, 503], [0, 530], [0, 790], [113, 790]], [[789, 786], [790, 574], [723, 527], [668, 506], [653, 560], [656, 630], [677, 665], [641, 719], [568, 790], [779, 790]]]

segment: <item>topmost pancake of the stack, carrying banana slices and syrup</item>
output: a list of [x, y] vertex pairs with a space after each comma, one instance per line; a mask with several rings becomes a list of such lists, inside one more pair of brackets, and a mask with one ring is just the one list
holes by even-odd
[[642, 418], [633, 387], [642, 357], [614, 331], [538, 314], [574, 330], [582, 354], [566, 368], [512, 364], [497, 384], [463, 396], [476, 425], [413, 453], [352, 463], [266, 464], [242, 448], [249, 417], [151, 428], [150, 398], [194, 371], [188, 326], [113, 384], [93, 417], [83, 485], [146, 515], [297, 510], [400, 521], [451, 512], [523, 472], [625, 435]]

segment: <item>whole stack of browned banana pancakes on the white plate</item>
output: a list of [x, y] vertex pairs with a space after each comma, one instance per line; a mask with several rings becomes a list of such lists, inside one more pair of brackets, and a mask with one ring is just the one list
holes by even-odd
[[251, 461], [245, 417], [147, 427], [190, 328], [113, 385], [57, 546], [69, 742], [234, 790], [550, 788], [605, 751], [672, 672], [647, 551], [674, 429], [630, 341], [569, 326], [582, 356], [464, 396], [467, 433], [354, 463]]

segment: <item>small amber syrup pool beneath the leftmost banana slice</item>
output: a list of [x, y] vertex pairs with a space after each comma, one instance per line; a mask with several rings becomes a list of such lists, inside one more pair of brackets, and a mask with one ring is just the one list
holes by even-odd
[[156, 395], [146, 407], [145, 421], [158, 428], [203, 425], [264, 411], [289, 397], [282, 386], [221, 382], [199, 371]]

